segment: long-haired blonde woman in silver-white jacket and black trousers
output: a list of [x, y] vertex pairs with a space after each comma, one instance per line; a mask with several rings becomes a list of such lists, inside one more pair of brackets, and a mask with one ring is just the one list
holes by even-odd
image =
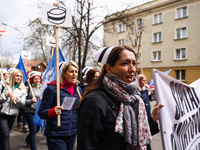
[[9, 150], [10, 130], [19, 113], [19, 107], [25, 105], [27, 95], [22, 71], [15, 69], [10, 75], [9, 85], [2, 88], [4, 90], [0, 95], [0, 147], [2, 150]]

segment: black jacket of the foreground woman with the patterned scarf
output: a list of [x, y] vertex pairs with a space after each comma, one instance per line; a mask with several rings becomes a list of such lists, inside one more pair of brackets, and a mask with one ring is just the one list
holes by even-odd
[[79, 108], [77, 150], [126, 150], [115, 133], [120, 103], [104, 89], [89, 93]]

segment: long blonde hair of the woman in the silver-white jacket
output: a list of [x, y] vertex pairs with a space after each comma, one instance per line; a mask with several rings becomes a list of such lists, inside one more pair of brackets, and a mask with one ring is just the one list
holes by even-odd
[[24, 85], [24, 83], [23, 83], [23, 73], [22, 73], [22, 71], [19, 70], [19, 69], [13, 70], [13, 72], [12, 72], [11, 75], [10, 75], [10, 78], [9, 78], [9, 87], [10, 87], [11, 89], [15, 86], [15, 76], [16, 76], [17, 73], [19, 73], [19, 72], [22, 74], [22, 80], [19, 82], [18, 88], [19, 88], [20, 90], [26, 89], [26, 88], [25, 88], [25, 85]]

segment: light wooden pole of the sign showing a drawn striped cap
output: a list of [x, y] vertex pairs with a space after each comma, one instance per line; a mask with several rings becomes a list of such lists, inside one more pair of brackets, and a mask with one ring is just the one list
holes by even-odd
[[[56, 30], [56, 87], [57, 87], [57, 106], [60, 106], [60, 79], [59, 79], [59, 49], [58, 49], [58, 28], [59, 25], [55, 25]], [[60, 115], [57, 116], [57, 126], [60, 126]]]

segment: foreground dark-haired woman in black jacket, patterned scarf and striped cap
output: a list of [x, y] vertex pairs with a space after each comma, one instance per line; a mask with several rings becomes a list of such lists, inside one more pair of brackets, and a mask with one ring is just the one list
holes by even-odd
[[78, 150], [146, 149], [151, 141], [144, 103], [137, 90], [135, 52], [128, 46], [100, 49], [100, 77], [79, 108]]

